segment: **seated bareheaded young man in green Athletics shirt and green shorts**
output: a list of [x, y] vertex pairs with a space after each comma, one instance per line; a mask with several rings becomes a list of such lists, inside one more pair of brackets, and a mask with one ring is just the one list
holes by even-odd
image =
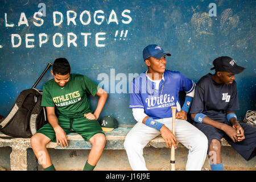
[[[67, 134], [76, 132], [92, 143], [84, 170], [93, 170], [105, 147], [106, 138], [97, 119], [108, 93], [85, 75], [72, 74], [68, 60], [56, 59], [51, 70], [53, 79], [43, 86], [42, 106], [46, 106], [49, 123], [31, 137], [31, 146], [44, 170], [55, 170], [46, 149], [51, 140], [61, 147], [68, 146]], [[98, 105], [93, 113], [86, 96], [97, 95]], [[56, 108], [56, 113], [55, 113]]]

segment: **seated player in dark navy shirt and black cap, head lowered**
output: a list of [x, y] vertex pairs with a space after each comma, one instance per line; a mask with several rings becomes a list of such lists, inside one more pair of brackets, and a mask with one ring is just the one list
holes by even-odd
[[221, 138], [224, 137], [239, 154], [250, 160], [255, 156], [256, 128], [239, 123], [235, 110], [239, 110], [235, 75], [245, 68], [228, 56], [213, 61], [214, 75], [208, 73], [196, 84], [191, 106], [194, 125], [208, 138], [208, 156], [213, 171], [224, 170], [221, 159]]

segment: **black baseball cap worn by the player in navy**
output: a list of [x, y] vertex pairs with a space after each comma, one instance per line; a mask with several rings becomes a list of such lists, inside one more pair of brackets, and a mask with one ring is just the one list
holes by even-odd
[[213, 60], [213, 65], [214, 67], [210, 68], [210, 70], [215, 69], [216, 72], [230, 72], [233, 74], [239, 74], [245, 70], [245, 68], [238, 66], [236, 61], [228, 56], [217, 57]]

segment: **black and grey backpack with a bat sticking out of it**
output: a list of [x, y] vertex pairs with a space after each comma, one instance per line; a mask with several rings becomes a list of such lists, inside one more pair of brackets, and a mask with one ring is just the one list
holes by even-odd
[[35, 86], [51, 65], [48, 63], [31, 89], [20, 92], [9, 114], [0, 122], [0, 131], [11, 137], [1, 138], [30, 138], [48, 122], [46, 108], [41, 106], [43, 91], [35, 89]]

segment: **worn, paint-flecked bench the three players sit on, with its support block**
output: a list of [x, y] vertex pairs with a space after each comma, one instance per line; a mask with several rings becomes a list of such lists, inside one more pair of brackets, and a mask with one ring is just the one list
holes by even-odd
[[[127, 133], [133, 126], [119, 126], [118, 129], [106, 132], [106, 145], [105, 150], [124, 150], [123, 142]], [[7, 135], [0, 133], [0, 137], [7, 137]], [[81, 135], [77, 133], [71, 133], [67, 135], [68, 146], [60, 147], [56, 146], [55, 142], [49, 142], [47, 148], [55, 148], [59, 150], [67, 149], [90, 149], [92, 145], [89, 141], [85, 141]], [[222, 146], [230, 146], [224, 138], [222, 138]], [[148, 142], [146, 147], [163, 148], [166, 147], [166, 143], [161, 136], [158, 136]], [[10, 166], [13, 171], [27, 171], [38, 169], [38, 162], [31, 148], [30, 138], [13, 138], [3, 139], [0, 138], [0, 147], [11, 147], [12, 152], [10, 154]], [[178, 143], [177, 147], [184, 147], [183, 144]]]

